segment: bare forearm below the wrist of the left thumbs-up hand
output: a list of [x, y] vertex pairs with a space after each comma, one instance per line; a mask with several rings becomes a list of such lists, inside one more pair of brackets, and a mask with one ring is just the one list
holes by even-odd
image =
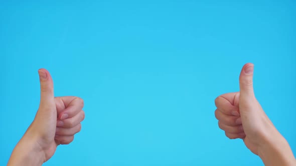
[[44, 153], [30, 138], [23, 137], [14, 148], [8, 166], [40, 166], [44, 162]]

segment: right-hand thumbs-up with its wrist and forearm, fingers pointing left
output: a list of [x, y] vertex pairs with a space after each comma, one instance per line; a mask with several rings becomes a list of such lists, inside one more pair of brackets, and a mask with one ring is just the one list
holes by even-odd
[[245, 64], [239, 76], [239, 92], [222, 94], [215, 99], [218, 125], [227, 137], [243, 139], [246, 147], [265, 165], [296, 165], [288, 142], [254, 95], [253, 70], [252, 63]]

